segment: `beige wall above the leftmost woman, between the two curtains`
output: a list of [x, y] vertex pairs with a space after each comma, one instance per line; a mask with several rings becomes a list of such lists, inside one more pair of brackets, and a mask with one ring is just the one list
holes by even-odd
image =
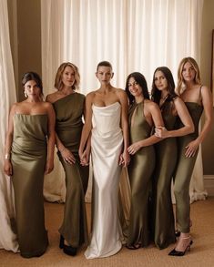
[[42, 75], [40, 0], [7, 0], [15, 85], [24, 98], [21, 78], [26, 71]]

